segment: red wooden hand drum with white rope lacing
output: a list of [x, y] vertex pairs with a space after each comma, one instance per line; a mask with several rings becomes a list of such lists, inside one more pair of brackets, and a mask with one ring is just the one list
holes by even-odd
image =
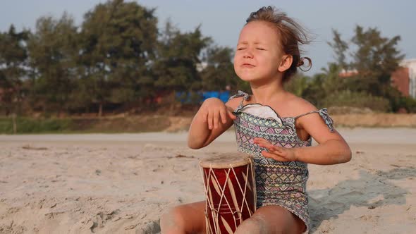
[[256, 186], [248, 154], [221, 154], [200, 161], [207, 233], [234, 233], [256, 210]]

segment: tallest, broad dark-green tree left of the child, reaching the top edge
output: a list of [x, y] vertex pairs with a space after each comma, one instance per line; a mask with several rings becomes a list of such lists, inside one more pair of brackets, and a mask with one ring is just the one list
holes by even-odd
[[[107, 1], [85, 14], [80, 33], [84, 101], [102, 106], [133, 101], [141, 93], [143, 78], [157, 43], [154, 9], [135, 2]], [[147, 90], [149, 91], [149, 90]]]

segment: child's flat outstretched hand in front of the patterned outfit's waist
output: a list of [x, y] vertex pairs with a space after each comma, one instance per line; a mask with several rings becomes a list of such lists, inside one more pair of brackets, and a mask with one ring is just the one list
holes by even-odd
[[269, 159], [274, 159], [276, 161], [298, 161], [295, 155], [295, 149], [277, 147], [274, 144], [268, 142], [267, 140], [259, 137], [255, 137], [254, 142], [259, 147], [269, 149], [269, 152], [265, 150], [262, 151], [262, 155]]

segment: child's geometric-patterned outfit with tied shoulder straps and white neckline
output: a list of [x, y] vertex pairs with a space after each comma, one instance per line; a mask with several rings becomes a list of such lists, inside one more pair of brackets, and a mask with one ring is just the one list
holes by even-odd
[[[308, 178], [307, 164], [300, 161], [281, 162], [265, 158], [261, 152], [267, 150], [254, 144], [255, 137], [262, 137], [279, 147], [309, 147], [312, 139], [300, 140], [296, 134], [295, 120], [310, 113], [319, 113], [329, 130], [333, 130], [333, 121], [326, 109], [311, 111], [296, 117], [280, 118], [270, 106], [261, 104], [243, 105], [250, 95], [239, 91], [234, 97], [243, 97], [240, 105], [235, 109], [237, 117], [234, 121], [238, 151], [250, 154], [254, 158], [255, 178], [257, 187], [257, 208], [267, 205], [279, 205], [288, 209], [310, 228], [308, 197], [306, 182]], [[254, 109], [255, 114], [245, 111]], [[252, 112], [252, 111], [251, 111]], [[273, 117], [259, 116], [257, 113], [272, 113]]]

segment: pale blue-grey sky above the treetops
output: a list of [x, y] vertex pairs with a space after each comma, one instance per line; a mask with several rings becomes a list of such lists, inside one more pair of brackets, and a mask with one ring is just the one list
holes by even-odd
[[[18, 30], [35, 29], [40, 16], [59, 18], [66, 11], [80, 25], [83, 15], [103, 0], [1, 0], [0, 31], [13, 23]], [[377, 27], [383, 37], [400, 35], [398, 49], [405, 58], [416, 58], [416, 1], [411, 0], [143, 0], [138, 4], [156, 8], [159, 28], [166, 20], [181, 32], [190, 32], [201, 25], [202, 34], [212, 37], [215, 44], [235, 48], [245, 19], [262, 6], [276, 6], [295, 18], [314, 35], [314, 41], [303, 47], [304, 56], [312, 58], [312, 69], [306, 75], [318, 73], [334, 61], [334, 53], [327, 44], [332, 30], [341, 33], [344, 40], [353, 36], [356, 25]]]

